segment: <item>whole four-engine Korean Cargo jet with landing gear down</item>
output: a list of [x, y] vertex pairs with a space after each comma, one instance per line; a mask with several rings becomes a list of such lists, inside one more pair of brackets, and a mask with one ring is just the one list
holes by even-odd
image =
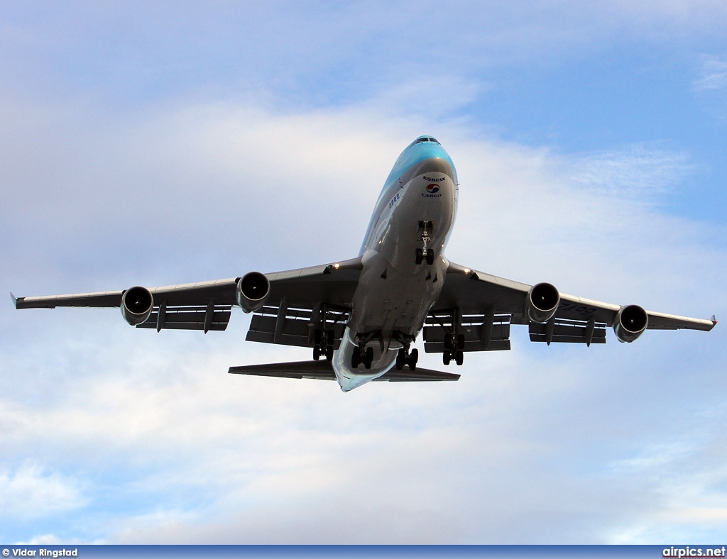
[[[510, 326], [530, 340], [606, 342], [606, 328], [630, 343], [645, 330], [703, 330], [712, 319], [645, 311], [565, 295], [450, 262], [444, 248], [457, 213], [459, 183], [449, 154], [419, 136], [399, 155], [356, 258], [286, 272], [148, 289], [20, 297], [17, 309], [118, 307], [138, 328], [225, 330], [233, 306], [252, 313], [246, 340], [313, 349], [313, 360], [230, 367], [228, 372], [337, 380], [344, 392], [369, 381], [458, 380], [417, 367], [411, 345], [462, 365], [470, 351], [510, 349]], [[321, 359], [323, 358], [323, 359]]]

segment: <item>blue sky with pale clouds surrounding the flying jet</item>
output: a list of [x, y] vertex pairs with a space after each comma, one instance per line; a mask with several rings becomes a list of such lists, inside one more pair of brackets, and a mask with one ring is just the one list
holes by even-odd
[[[427, 134], [461, 183], [451, 261], [727, 319], [726, 28], [721, 0], [4, 1], [0, 284], [352, 258]], [[1, 304], [0, 541], [727, 539], [722, 324], [590, 348], [513, 327], [457, 383], [350, 393], [228, 375], [309, 358], [248, 325]]]

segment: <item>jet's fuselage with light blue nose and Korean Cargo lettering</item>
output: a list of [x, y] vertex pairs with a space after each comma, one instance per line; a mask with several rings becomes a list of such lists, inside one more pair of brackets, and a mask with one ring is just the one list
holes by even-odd
[[[425, 139], [422, 139], [425, 138]], [[422, 136], [398, 158], [377, 201], [361, 247], [364, 269], [333, 367], [343, 391], [390, 370], [398, 348], [424, 326], [443, 286], [443, 248], [457, 213], [457, 174], [449, 155]], [[431, 140], [431, 141], [430, 141]], [[433, 250], [433, 264], [415, 260]], [[431, 261], [431, 260], [430, 260]], [[352, 367], [356, 348], [371, 347], [371, 367]]]

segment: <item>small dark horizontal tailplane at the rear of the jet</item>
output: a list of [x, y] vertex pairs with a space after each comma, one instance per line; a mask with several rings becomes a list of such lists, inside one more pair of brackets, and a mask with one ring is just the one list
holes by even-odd
[[[230, 373], [236, 375], [254, 375], [260, 377], [277, 378], [311, 378], [316, 380], [336, 380], [329, 361], [299, 361], [292, 363], [270, 363], [260, 365], [243, 365], [241, 367], [230, 367]], [[433, 371], [428, 369], [417, 370], [396, 370], [386, 372], [376, 380], [387, 380], [391, 383], [401, 382], [425, 382], [430, 380], [459, 380], [459, 375], [451, 372]]]

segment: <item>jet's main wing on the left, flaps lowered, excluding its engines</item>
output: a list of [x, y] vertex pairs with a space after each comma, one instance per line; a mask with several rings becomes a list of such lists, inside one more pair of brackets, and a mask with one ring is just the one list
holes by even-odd
[[[360, 272], [361, 258], [353, 258], [337, 264], [265, 274], [270, 282], [270, 293], [265, 306], [255, 311], [248, 339], [252, 339], [252, 334], [253, 338], [265, 338], [260, 341], [286, 343], [286, 340], [292, 340], [297, 343], [290, 345], [308, 345], [300, 343], [298, 339], [303, 326], [301, 319], [307, 314], [306, 340], [310, 338], [308, 325], [311, 320], [326, 317], [332, 325], [337, 325], [340, 319], [347, 319]], [[137, 327], [156, 328], [157, 331], [225, 330], [230, 321], [232, 306], [236, 304], [239, 279], [233, 277], [211, 282], [153, 287], [149, 290], [153, 297], [153, 311]], [[124, 290], [116, 290], [41, 297], [12, 296], [12, 299], [17, 309], [54, 309], [57, 306], [118, 308], [121, 307], [123, 295]], [[270, 319], [273, 321], [272, 327]], [[336, 330], [337, 333], [342, 332], [340, 328]], [[292, 338], [291, 334], [294, 334]]]

